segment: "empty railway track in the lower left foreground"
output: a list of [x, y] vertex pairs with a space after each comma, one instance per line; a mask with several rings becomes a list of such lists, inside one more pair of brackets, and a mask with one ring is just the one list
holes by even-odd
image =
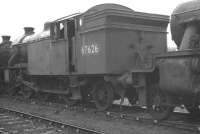
[[0, 107], [0, 134], [104, 134], [73, 124]]

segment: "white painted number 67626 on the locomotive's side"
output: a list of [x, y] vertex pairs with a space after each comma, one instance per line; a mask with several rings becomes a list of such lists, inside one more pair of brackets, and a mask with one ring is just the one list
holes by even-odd
[[81, 47], [81, 53], [82, 53], [82, 55], [97, 54], [97, 53], [99, 53], [99, 47], [97, 44], [83, 45]]

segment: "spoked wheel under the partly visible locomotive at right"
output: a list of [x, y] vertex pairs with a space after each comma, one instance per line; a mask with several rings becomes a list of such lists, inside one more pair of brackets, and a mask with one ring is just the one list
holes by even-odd
[[156, 120], [167, 119], [173, 112], [174, 107], [170, 106], [171, 99], [168, 94], [162, 92], [158, 85], [152, 86], [151, 95], [148, 100], [148, 109]]

